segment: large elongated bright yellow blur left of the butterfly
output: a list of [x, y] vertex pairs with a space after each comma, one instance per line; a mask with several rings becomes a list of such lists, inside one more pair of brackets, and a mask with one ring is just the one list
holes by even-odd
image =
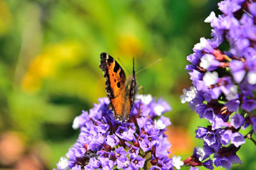
[[72, 41], [45, 46], [44, 52], [29, 64], [28, 72], [22, 79], [22, 89], [25, 92], [36, 92], [40, 89], [42, 79], [56, 74], [61, 66], [77, 64], [81, 52], [82, 46]]

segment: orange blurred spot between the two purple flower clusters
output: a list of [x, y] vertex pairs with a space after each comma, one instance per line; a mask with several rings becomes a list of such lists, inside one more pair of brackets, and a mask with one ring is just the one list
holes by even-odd
[[193, 150], [193, 138], [184, 127], [168, 127], [166, 133], [172, 144], [170, 156], [189, 154]]

